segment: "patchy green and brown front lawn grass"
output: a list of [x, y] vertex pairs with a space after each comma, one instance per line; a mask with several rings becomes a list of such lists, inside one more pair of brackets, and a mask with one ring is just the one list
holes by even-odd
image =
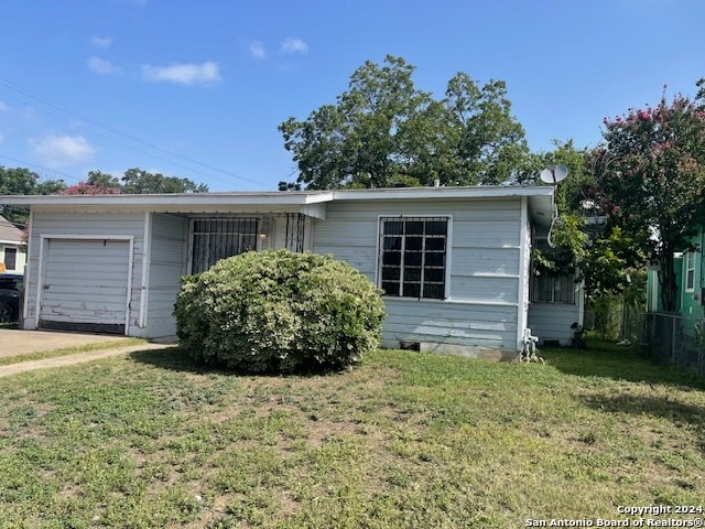
[[0, 379], [0, 527], [518, 528], [705, 503], [703, 385], [604, 344], [544, 354], [282, 378], [172, 348]]

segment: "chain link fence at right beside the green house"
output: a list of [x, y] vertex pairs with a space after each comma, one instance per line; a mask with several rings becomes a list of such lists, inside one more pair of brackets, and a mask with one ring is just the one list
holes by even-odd
[[639, 353], [705, 378], [705, 320], [673, 314], [639, 316]]

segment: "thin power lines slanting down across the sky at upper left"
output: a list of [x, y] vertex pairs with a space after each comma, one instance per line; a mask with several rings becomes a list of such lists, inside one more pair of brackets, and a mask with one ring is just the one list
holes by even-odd
[[[2, 78], [2, 77], [0, 77], [0, 85], [1, 85], [1, 86], [4, 86], [6, 88], [8, 88], [8, 89], [10, 89], [10, 90], [13, 90], [13, 91], [15, 91], [15, 93], [18, 93], [18, 94], [21, 94], [21, 95], [22, 95], [22, 96], [24, 96], [24, 97], [28, 97], [28, 98], [33, 99], [33, 100], [35, 100], [35, 101], [39, 101], [39, 102], [41, 102], [41, 104], [43, 104], [43, 105], [46, 105], [47, 107], [51, 107], [51, 108], [54, 108], [54, 109], [56, 109], [56, 110], [58, 110], [58, 111], [61, 111], [61, 112], [67, 114], [67, 115], [72, 116], [72, 117], [74, 117], [74, 118], [77, 118], [77, 119], [79, 119], [79, 120], [82, 120], [82, 121], [85, 121], [85, 122], [87, 122], [87, 123], [90, 123], [90, 125], [93, 125], [93, 126], [95, 126], [95, 127], [98, 127], [98, 128], [100, 128], [100, 129], [102, 129], [102, 130], [105, 130], [105, 131], [107, 131], [107, 132], [110, 132], [110, 133], [112, 133], [112, 134], [117, 136], [117, 137], [121, 137], [121, 138], [124, 138], [124, 139], [127, 139], [127, 140], [130, 140], [131, 142], [134, 142], [134, 143], [137, 143], [137, 144], [145, 145], [145, 147], [148, 147], [148, 148], [150, 148], [150, 149], [152, 149], [152, 150], [154, 150], [154, 151], [162, 152], [162, 153], [167, 154], [169, 156], [172, 156], [172, 158], [176, 158], [176, 159], [180, 159], [180, 160], [184, 160], [184, 161], [186, 161], [186, 162], [188, 162], [188, 163], [192, 163], [192, 164], [194, 164], [194, 165], [202, 166], [202, 168], [207, 169], [207, 170], [209, 170], [209, 171], [216, 171], [216, 172], [218, 172], [218, 173], [221, 173], [221, 174], [228, 175], [228, 176], [230, 176], [230, 177], [234, 177], [234, 179], [237, 179], [237, 180], [241, 180], [241, 181], [243, 181], [243, 182], [249, 182], [249, 183], [251, 183], [251, 184], [257, 184], [257, 185], [259, 185], [259, 182], [257, 182], [257, 181], [254, 181], [254, 180], [252, 180], [252, 179], [247, 179], [247, 177], [245, 177], [245, 176], [240, 176], [240, 175], [235, 174], [235, 173], [232, 173], [232, 172], [230, 172], [230, 171], [226, 171], [226, 170], [224, 170], [224, 169], [216, 168], [216, 166], [214, 166], [214, 165], [210, 165], [210, 164], [208, 164], [208, 163], [200, 162], [200, 161], [195, 160], [195, 159], [193, 159], [193, 158], [185, 156], [185, 155], [183, 155], [183, 154], [180, 154], [180, 153], [176, 153], [176, 152], [170, 151], [170, 150], [167, 150], [167, 149], [163, 149], [163, 148], [161, 148], [161, 147], [159, 147], [159, 145], [156, 145], [156, 144], [154, 144], [154, 143], [151, 143], [151, 142], [147, 141], [147, 140], [143, 140], [143, 139], [137, 138], [137, 137], [134, 137], [134, 136], [132, 136], [132, 134], [130, 134], [130, 133], [128, 133], [128, 132], [124, 132], [124, 131], [122, 131], [122, 130], [120, 130], [120, 129], [118, 129], [118, 128], [116, 128], [116, 127], [112, 127], [112, 126], [110, 126], [110, 125], [104, 123], [104, 122], [101, 122], [101, 121], [99, 121], [99, 120], [97, 120], [97, 119], [95, 119], [95, 118], [91, 118], [91, 117], [89, 117], [89, 116], [83, 115], [83, 114], [80, 114], [80, 112], [77, 112], [77, 111], [75, 111], [75, 110], [72, 110], [72, 109], [69, 109], [69, 108], [67, 108], [67, 107], [64, 107], [64, 106], [62, 106], [62, 105], [58, 105], [58, 104], [56, 104], [56, 102], [52, 101], [51, 99], [48, 99], [48, 98], [46, 98], [46, 97], [44, 97], [44, 96], [41, 96], [41, 95], [39, 95], [39, 94], [34, 94], [34, 93], [32, 93], [32, 91], [30, 91], [30, 90], [26, 90], [25, 88], [22, 88], [22, 87], [20, 87], [19, 85], [15, 85], [15, 84], [13, 84], [13, 83], [11, 83], [11, 82], [9, 82], [9, 80], [7, 80], [7, 79]], [[124, 145], [124, 143], [122, 143], [122, 144]], [[166, 162], [169, 162], [169, 163], [174, 163], [174, 162], [173, 162], [173, 161], [171, 161], [171, 160], [165, 160], [165, 159], [160, 158], [160, 156], [158, 156], [158, 155], [155, 155], [155, 154], [153, 154], [153, 153], [150, 153], [150, 152], [147, 152], [147, 151], [143, 151], [143, 150], [140, 150], [140, 149], [135, 149], [134, 147], [130, 147], [130, 145], [126, 145], [126, 147], [128, 147], [129, 149], [133, 149], [133, 150], [135, 150], [135, 151], [138, 151], [138, 152], [142, 152], [143, 154], [147, 154], [147, 155], [149, 155], [149, 156], [155, 158], [155, 159], [158, 159], [158, 160], [166, 161]], [[6, 156], [2, 156], [2, 158], [6, 158]], [[176, 165], [180, 165], [180, 164], [177, 164], [177, 163], [175, 163], [175, 164], [176, 164]], [[182, 166], [182, 168], [184, 168], [184, 169], [189, 169], [189, 170], [192, 170], [192, 171], [193, 171], [193, 168], [187, 168], [187, 166], [184, 166], [184, 165], [180, 165], [180, 166]], [[198, 172], [198, 171], [196, 171], [196, 172]], [[226, 180], [224, 180], [224, 179], [217, 179], [217, 177], [214, 177], [213, 175], [208, 175], [208, 174], [206, 174], [206, 173], [200, 173], [200, 174], [204, 174], [204, 175], [206, 175], [206, 176], [210, 176], [210, 177], [213, 177], [214, 180], [219, 180], [220, 182], [224, 182], [224, 183], [225, 183], [225, 182], [228, 182], [228, 181], [226, 181]]]

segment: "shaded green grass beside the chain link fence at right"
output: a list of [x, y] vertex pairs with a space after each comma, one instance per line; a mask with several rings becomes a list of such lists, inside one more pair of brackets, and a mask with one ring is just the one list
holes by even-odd
[[705, 380], [693, 373], [663, 366], [629, 347], [608, 342], [589, 339], [587, 349], [546, 347], [542, 353], [552, 366], [566, 375], [705, 390]]

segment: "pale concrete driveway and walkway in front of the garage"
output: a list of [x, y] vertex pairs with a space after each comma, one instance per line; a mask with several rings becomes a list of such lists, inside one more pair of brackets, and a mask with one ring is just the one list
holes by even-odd
[[[124, 346], [117, 346], [124, 342]], [[37, 352], [68, 349], [72, 347], [85, 347], [95, 344], [110, 344], [109, 348], [87, 350], [70, 355], [44, 358], [40, 360], [18, 361], [0, 366], [0, 377], [9, 377], [19, 373], [44, 369], [50, 367], [69, 366], [84, 361], [108, 358], [110, 356], [127, 355], [135, 350], [163, 349], [173, 347], [174, 342], [147, 343], [127, 345], [129, 338], [122, 336], [108, 336], [99, 334], [58, 333], [53, 331], [22, 331], [0, 328], [0, 357], [21, 356]]]

